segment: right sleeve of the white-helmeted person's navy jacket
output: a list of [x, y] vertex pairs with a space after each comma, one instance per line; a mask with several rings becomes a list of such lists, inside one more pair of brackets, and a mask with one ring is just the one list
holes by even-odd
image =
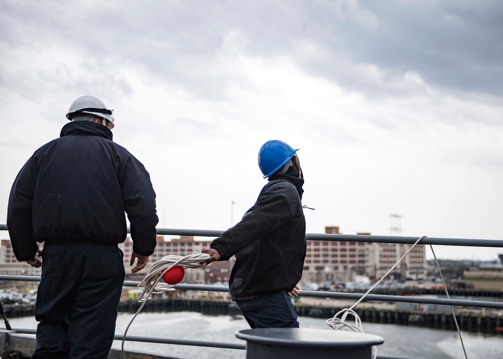
[[140, 161], [130, 155], [123, 168], [122, 197], [131, 224], [133, 251], [151, 255], [156, 244], [155, 226], [159, 219], [155, 210], [155, 192], [150, 176]]

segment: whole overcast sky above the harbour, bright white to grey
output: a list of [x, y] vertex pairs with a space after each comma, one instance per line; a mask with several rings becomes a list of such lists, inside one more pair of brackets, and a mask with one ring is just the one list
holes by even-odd
[[92, 95], [150, 173], [159, 228], [237, 222], [280, 139], [300, 149], [308, 233], [397, 234], [398, 214], [405, 236], [503, 239], [502, 39], [498, 0], [0, 0], [0, 223]]

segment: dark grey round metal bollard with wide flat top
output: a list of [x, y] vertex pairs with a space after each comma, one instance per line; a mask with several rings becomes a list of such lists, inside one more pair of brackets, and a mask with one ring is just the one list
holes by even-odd
[[246, 359], [371, 359], [378, 335], [333, 329], [256, 328], [240, 330]]

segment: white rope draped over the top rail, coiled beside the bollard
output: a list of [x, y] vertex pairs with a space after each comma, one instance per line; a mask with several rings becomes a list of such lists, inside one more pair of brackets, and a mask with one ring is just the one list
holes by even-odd
[[[333, 318], [327, 319], [326, 325], [328, 325], [330, 328], [335, 329], [335, 330], [355, 331], [355, 332], [359, 332], [359, 333], [364, 333], [363, 327], [362, 327], [362, 321], [361, 321], [360, 317], [358, 316], [358, 314], [353, 310], [353, 308], [355, 308], [379, 283], [381, 283], [381, 281], [384, 278], [386, 278], [388, 276], [388, 274], [391, 273], [391, 271], [394, 270], [394, 268], [398, 265], [398, 263], [400, 263], [400, 261], [403, 258], [405, 258], [408, 255], [408, 253], [410, 253], [412, 248], [414, 248], [415, 245], [417, 243], [419, 243], [423, 238], [426, 238], [426, 236], [422, 236], [422, 237], [418, 238], [415, 241], [415, 243], [412, 244], [410, 246], [410, 248], [405, 252], [405, 254], [403, 254], [402, 257], [400, 259], [398, 259], [398, 261], [388, 270], [388, 272], [386, 272], [386, 274], [379, 281], [377, 281], [376, 284], [374, 284], [372, 286], [372, 288], [370, 288], [367, 291], [367, 293], [365, 293], [355, 304], [353, 304], [350, 308], [345, 308], [343, 310], [340, 310], [339, 312], [336, 313], [336, 315], [333, 316]], [[444, 281], [444, 276], [442, 275], [442, 271], [440, 270], [440, 264], [437, 260], [437, 256], [435, 255], [435, 251], [433, 250], [433, 247], [431, 245], [430, 245], [430, 248], [432, 249], [433, 256], [435, 257], [435, 261], [437, 262], [437, 267], [438, 267], [438, 270], [440, 273], [440, 278], [442, 278], [442, 283], [444, 284], [445, 292], [447, 294], [447, 298], [449, 299], [449, 293], [447, 292], [447, 286]], [[456, 315], [454, 314], [454, 308], [452, 306], [451, 306], [451, 311], [452, 311], [452, 316], [454, 317], [454, 322], [456, 323], [456, 328], [458, 329], [458, 334], [459, 334], [459, 338], [461, 340], [461, 345], [463, 346], [465, 358], [468, 359], [468, 356], [467, 356], [466, 350], [465, 350], [465, 345], [463, 343], [463, 338], [461, 337], [461, 331], [459, 330], [458, 322], [456, 320]], [[342, 314], [342, 316], [341, 316], [341, 318], [339, 318], [338, 316], [341, 314]], [[348, 315], [352, 315], [354, 317], [355, 324], [350, 324], [350, 323], [345, 322]], [[377, 346], [372, 345], [372, 349], [373, 349], [372, 359], [376, 359]]]

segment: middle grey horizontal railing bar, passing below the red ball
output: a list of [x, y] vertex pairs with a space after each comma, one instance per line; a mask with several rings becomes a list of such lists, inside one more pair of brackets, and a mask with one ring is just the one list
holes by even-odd
[[[24, 281], [24, 282], [40, 282], [40, 277], [36, 276], [0, 276], [0, 281]], [[140, 282], [124, 281], [126, 287], [138, 287]], [[227, 286], [209, 286], [202, 284], [177, 284], [175, 289], [192, 290], [192, 291], [207, 291], [207, 292], [229, 292]], [[322, 291], [299, 291], [300, 296], [316, 297], [316, 298], [334, 298], [334, 299], [350, 299], [359, 300], [362, 297], [360, 293], [343, 293], [343, 292], [322, 292]], [[376, 302], [403, 302], [403, 303], [420, 303], [420, 304], [441, 304], [453, 305], [458, 307], [474, 307], [474, 308], [492, 308], [503, 309], [503, 302], [487, 302], [463, 299], [443, 299], [443, 298], [425, 298], [425, 297], [409, 297], [409, 296], [393, 296], [382, 294], [368, 294], [366, 300]]]

